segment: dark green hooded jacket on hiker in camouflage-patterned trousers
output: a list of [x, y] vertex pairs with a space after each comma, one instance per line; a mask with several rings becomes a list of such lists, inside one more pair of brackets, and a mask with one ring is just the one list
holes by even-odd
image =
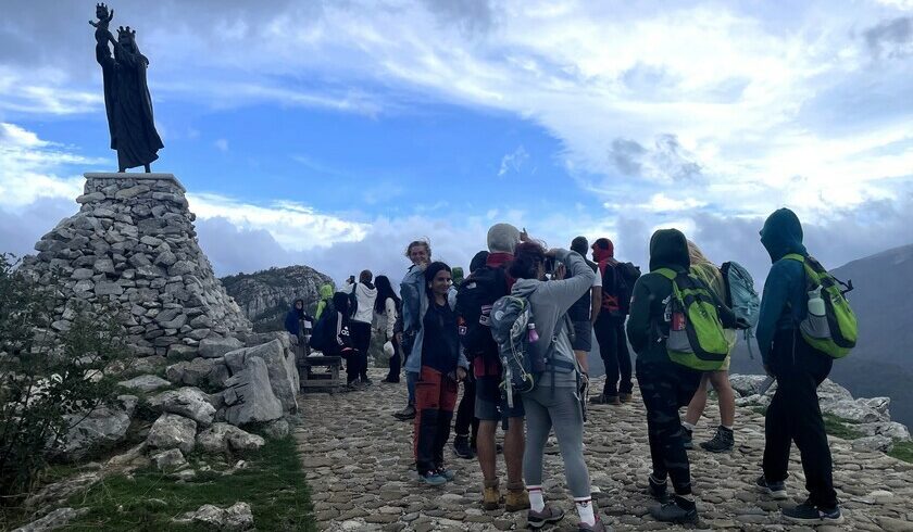
[[[650, 239], [650, 273], [640, 276], [634, 284], [630, 301], [630, 315], [627, 333], [630, 346], [637, 353], [638, 360], [647, 363], [668, 363], [665, 338], [658, 338], [658, 332], [666, 331], [665, 307], [672, 296], [672, 281], [658, 274], [660, 268], [676, 273], [687, 273], [690, 267], [688, 242], [678, 229], [660, 229]], [[736, 317], [713, 290], [716, 308], [724, 327], [735, 327]]]

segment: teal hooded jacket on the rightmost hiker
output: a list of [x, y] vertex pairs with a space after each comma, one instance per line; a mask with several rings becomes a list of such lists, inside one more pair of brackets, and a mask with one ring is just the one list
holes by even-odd
[[771, 255], [773, 266], [764, 281], [755, 335], [764, 364], [770, 364], [767, 357], [774, 333], [795, 329], [808, 313], [804, 267], [798, 261], [784, 257], [790, 253], [809, 256], [809, 252], [802, 244], [802, 224], [788, 208], [774, 211], [767, 217], [761, 229], [761, 243]]

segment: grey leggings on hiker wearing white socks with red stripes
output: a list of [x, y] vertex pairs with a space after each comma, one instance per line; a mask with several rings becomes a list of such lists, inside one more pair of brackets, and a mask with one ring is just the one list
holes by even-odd
[[589, 472], [584, 461], [584, 415], [574, 388], [537, 387], [523, 395], [526, 410], [526, 451], [523, 480], [542, 485], [542, 454], [554, 428], [564, 460], [564, 476], [574, 498], [590, 496]]

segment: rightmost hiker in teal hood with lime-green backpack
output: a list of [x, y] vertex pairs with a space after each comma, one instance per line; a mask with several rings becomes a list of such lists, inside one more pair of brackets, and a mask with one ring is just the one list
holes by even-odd
[[[830, 373], [834, 358], [855, 344], [855, 317], [836, 279], [809, 256], [802, 225], [792, 211], [771, 214], [761, 229], [761, 243], [773, 266], [761, 299], [758, 346], [777, 390], [767, 407], [763, 474], [756, 484], [774, 498], [787, 498], [789, 451], [796, 442], [809, 498], [784, 508], [783, 516], [801, 523], [839, 523], [843, 516], [834, 490], [817, 387]], [[814, 327], [821, 321], [824, 327]]]

